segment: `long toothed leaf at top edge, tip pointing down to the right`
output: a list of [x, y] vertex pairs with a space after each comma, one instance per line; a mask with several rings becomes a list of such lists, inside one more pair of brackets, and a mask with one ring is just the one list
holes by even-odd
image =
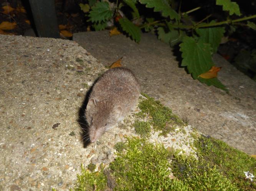
[[139, 0], [141, 4], [146, 4], [148, 8], [154, 8], [154, 11], [161, 11], [162, 16], [170, 16], [171, 19], [179, 20], [180, 16], [173, 10], [166, 0]]

